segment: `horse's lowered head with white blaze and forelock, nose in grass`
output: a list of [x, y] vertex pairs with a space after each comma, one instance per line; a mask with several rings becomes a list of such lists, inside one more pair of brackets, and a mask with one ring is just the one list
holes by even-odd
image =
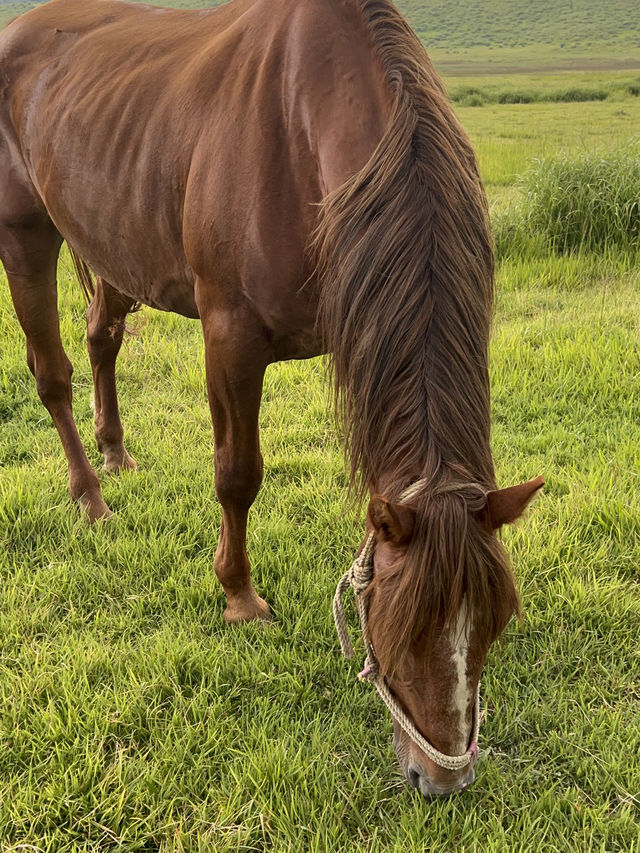
[[429, 744], [445, 756], [470, 750], [463, 767], [445, 769], [394, 720], [402, 771], [425, 796], [474, 781], [482, 668], [491, 643], [519, 609], [496, 531], [522, 514], [543, 483], [538, 478], [489, 492], [452, 483], [399, 502], [375, 496], [369, 504], [376, 541], [368, 630], [380, 670]]

